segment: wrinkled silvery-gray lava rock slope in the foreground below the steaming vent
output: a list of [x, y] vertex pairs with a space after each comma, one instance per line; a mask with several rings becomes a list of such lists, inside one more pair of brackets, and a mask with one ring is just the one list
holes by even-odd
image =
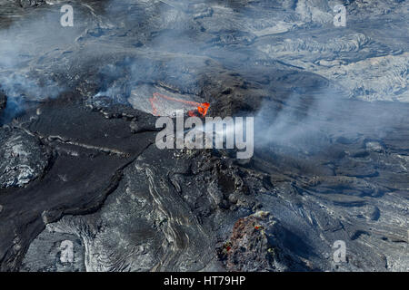
[[[100, 211], [66, 216], [49, 227], [81, 239], [87, 271], [220, 270], [216, 237], [226, 222], [251, 212], [254, 202], [244, 189], [224, 183], [241, 179], [234, 168], [221, 169], [215, 159], [206, 163], [209, 158], [208, 153], [176, 154], [152, 146], [125, 169], [125, 178]], [[217, 170], [231, 177], [221, 181]], [[32, 244], [30, 256], [39, 256], [40, 247]], [[32, 264], [30, 256], [24, 264]], [[53, 260], [47, 257], [43, 263]]]

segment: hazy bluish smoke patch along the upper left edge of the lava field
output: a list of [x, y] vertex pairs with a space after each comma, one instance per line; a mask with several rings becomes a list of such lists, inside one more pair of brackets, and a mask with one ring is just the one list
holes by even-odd
[[[0, 29], [0, 90], [7, 105], [3, 122], [25, 110], [27, 102], [56, 98], [65, 85], [55, 80], [59, 64], [51, 55], [75, 42], [78, 29], [67, 30], [59, 24], [58, 7], [27, 7], [25, 15]], [[23, 13], [17, 7], [11, 14]]]

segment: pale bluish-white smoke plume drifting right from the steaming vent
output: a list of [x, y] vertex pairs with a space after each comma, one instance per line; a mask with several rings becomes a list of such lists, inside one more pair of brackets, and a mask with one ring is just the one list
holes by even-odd
[[255, 117], [256, 148], [277, 145], [288, 152], [321, 154], [336, 142], [354, 143], [362, 137], [382, 140], [409, 116], [409, 112], [394, 115], [393, 103], [352, 100], [329, 88], [294, 93], [280, 110], [274, 105], [264, 102]]

